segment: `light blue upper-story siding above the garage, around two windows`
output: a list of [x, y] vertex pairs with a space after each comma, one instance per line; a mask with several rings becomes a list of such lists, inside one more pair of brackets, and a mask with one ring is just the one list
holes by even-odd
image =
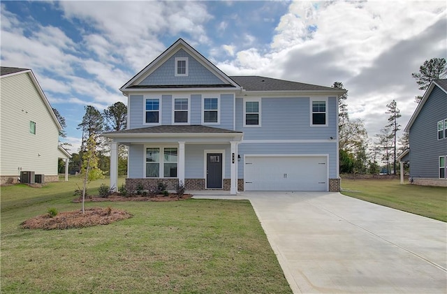
[[310, 126], [310, 98], [262, 98], [261, 127], [244, 127], [244, 105], [236, 98], [236, 130], [244, 140], [326, 140], [337, 137], [337, 98], [328, 98], [328, 126]]

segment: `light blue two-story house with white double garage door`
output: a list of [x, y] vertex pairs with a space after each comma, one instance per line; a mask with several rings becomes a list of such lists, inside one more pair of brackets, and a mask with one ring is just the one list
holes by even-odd
[[228, 76], [182, 39], [121, 89], [129, 189], [339, 191], [338, 97], [344, 90], [260, 76]]

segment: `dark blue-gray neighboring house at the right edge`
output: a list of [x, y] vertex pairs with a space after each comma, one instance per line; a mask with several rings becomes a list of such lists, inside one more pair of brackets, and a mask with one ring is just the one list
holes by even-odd
[[447, 186], [447, 79], [430, 84], [405, 131], [410, 149], [399, 156], [401, 170], [409, 162], [413, 184]]

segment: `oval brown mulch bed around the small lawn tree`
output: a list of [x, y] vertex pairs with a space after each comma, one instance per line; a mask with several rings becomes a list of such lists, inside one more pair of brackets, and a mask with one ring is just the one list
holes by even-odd
[[68, 228], [86, 228], [89, 226], [108, 225], [115, 221], [130, 219], [133, 215], [125, 210], [117, 210], [111, 207], [89, 207], [85, 214], [81, 210], [71, 212], [59, 212], [57, 216], [42, 214], [20, 223], [22, 228], [43, 230], [65, 230]]

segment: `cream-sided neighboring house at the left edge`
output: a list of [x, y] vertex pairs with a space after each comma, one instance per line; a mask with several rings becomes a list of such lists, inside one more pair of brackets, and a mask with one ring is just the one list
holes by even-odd
[[61, 125], [34, 73], [3, 66], [0, 72], [1, 184], [17, 182], [21, 172], [34, 172], [44, 175], [44, 182], [56, 182], [58, 159], [65, 160], [67, 179], [71, 155], [59, 147]]

